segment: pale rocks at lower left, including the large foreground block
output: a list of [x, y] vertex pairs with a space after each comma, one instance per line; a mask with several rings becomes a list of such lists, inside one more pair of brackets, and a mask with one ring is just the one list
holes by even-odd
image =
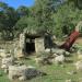
[[44, 75], [44, 72], [36, 70], [35, 67], [21, 65], [14, 60], [13, 56], [2, 58], [1, 68], [8, 73], [9, 79], [28, 80], [34, 77]]

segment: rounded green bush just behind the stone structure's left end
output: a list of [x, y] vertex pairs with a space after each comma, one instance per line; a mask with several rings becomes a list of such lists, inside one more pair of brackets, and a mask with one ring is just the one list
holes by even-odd
[[28, 31], [31, 30], [36, 30], [36, 20], [32, 16], [23, 16], [17, 21], [15, 24], [15, 30], [22, 32], [24, 28], [27, 28]]

